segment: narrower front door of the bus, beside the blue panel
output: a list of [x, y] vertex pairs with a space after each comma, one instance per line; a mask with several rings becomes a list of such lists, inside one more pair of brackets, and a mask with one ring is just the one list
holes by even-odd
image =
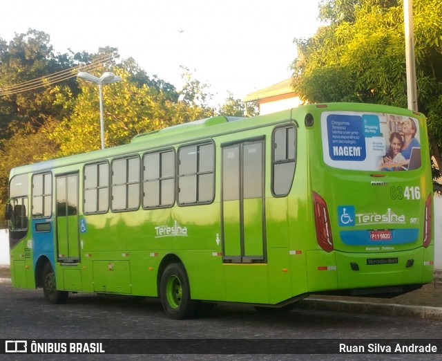
[[79, 261], [78, 174], [57, 176], [57, 254], [59, 262]]

